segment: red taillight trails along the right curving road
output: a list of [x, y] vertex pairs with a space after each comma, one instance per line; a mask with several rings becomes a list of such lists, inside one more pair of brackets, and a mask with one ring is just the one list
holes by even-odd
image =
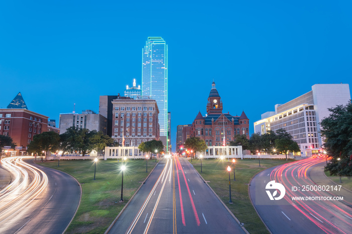
[[[285, 186], [285, 199], [292, 204], [306, 218], [315, 223], [325, 233], [348, 233], [352, 234], [352, 223], [346, 219], [352, 217], [352, 208], [339, 201], [315, 201], [309, 203], [303, 200], [295, 200], [294, 196], [331, 196], [327, 191], [291, 191], [292, 186], [317, 185], [310, 177], [310, 169], [319, 163], [325, 162], [325, 158], [311, 157], [292, 163], [278, 166], [270, 173], [271, 180], [280, 182]], [[297, 176], [295, 176], [297, 174]], [[280, 193], [280, 191], [278, 191]], [[334, 217], [334, 219], [331, 219]], [[343, 225], [341, 225], [343, 224]], [[342, 227], [343, 226], [343, 227]]]

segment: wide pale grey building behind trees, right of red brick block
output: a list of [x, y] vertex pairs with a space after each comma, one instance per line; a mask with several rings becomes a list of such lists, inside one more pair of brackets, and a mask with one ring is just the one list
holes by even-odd
[[60, 114], [60, 132], [65, 133], [69, 127], [86, 128], [90, 131], [97, 130], [107, 134], [108, 120], [101, 114], [92, 110], [83, 110], [81, 114], [63, 113]]

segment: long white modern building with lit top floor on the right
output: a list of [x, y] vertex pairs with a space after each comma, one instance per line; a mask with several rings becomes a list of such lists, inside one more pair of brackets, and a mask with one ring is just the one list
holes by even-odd
[[283, 128], [298, 143], [302, 156], [311, 156], [323, 144], [320, 122], [330, 115], [328, 108], [346, 105], [349, 101], [348, 84], [315, 84], [308, 93], [275, 105], [275, 112], [262, 114], [261, 120], [254, 122], [254, 132], [261, 135]]

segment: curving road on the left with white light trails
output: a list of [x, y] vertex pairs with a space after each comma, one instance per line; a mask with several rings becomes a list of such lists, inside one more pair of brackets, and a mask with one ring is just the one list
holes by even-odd
[[62, 233], [80, 200], [71, 176], [33, 163], [33, 157], [2, 159], [12, 175], [0, 191], [0, 233]]

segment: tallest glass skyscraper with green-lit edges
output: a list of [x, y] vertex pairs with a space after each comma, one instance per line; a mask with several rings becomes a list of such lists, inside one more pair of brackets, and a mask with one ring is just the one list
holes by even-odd
[[149, 96], [158, 105], [160, 140], [168, 151], [167, 45], [161, 37], [149, 37], [142, 50], [142, 96]]

